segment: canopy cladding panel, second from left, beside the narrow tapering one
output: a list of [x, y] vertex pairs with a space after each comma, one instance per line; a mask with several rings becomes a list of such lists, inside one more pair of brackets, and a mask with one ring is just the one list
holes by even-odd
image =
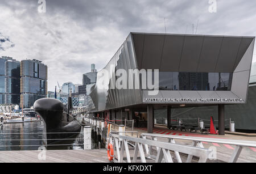
[[164, 35], [145, 35], [141, 69], [160, 69]]

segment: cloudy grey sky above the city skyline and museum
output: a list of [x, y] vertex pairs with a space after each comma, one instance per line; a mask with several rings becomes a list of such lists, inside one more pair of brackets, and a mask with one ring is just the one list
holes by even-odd
[[210, 13], [209, 0], [46, 0], [39, 13], [38, 0], [0, 0], [0, 56], [42, 60], [54, 91], [102, 69], [129, 32], [164, 33], [164, 18], [167, 33], [256, 36], [256, 1], [216, 2]]

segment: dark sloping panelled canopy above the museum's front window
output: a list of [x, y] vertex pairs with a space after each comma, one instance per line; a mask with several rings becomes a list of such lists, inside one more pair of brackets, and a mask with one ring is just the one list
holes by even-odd
[[254, 37], [132, 33], [139, 69], [233, 73]]

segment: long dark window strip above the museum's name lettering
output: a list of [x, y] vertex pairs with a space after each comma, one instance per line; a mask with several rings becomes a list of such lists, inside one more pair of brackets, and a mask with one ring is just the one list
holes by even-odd
[[159, 72], [159, 90], [230, 91], [232, 73]]

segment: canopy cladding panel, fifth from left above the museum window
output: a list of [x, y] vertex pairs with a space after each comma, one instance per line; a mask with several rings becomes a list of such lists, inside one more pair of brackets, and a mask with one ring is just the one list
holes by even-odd
[[223, 37], [204, 37], [197, 72], [215, 72]]

